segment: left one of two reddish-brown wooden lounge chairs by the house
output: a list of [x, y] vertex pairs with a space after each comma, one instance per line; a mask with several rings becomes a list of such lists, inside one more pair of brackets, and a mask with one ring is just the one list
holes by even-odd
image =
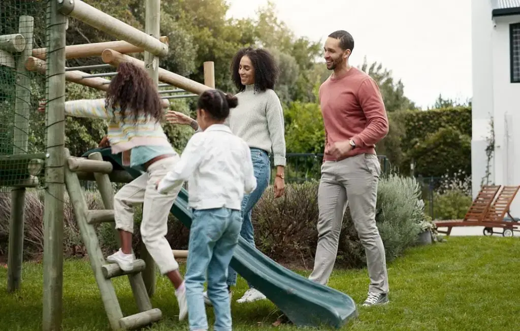
[[440, 231], [437, 229], [439, 233], [445, 233], [446, 235], [450, 235], [451, 229], [453, 227], [475, 227], [475, 226], [485, 226], [482, 224], [484, 221], [484, 217], [488, 213], [488, 210], [493, 202], [493, 199], [497, 195], [500, 190], [500, 185], [488, 185], [483, 186], [478, 192], [477, 197], [471, 204], [469, 210], [467, 210], [464, 219], [462, 220], [449, 220], [449, 221], [434, 221], [433, 223], [437, 228], [448, 228], [447, 231]]

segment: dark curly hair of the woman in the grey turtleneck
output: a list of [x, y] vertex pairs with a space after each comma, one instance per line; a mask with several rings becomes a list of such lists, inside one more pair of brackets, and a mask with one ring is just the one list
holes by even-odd
[[233, 83], [241, 92], [245, 86], [240, 82], [240, 74], [238, 68], [240, 67], [240, 60], [247, 56], [255, 72], [255, 91], [265, 91], [266, 89], [274, 89], [280, 70], [275, 61], [275, 58], [263, 48], [244, 47], [240, 49], [231, 61], [231, 77]]

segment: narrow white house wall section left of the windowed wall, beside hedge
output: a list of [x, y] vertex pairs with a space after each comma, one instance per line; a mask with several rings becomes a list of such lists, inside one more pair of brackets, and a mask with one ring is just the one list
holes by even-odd
[[[493, 22], [490, 1], [472, 1], [472, 137], [471, 169], [472, 193], [476, 197], [480, 181], [486, 173], [486, 137], [489, 118], [493, 114]], [[493, 171], [493, 167], [491, 168]]]

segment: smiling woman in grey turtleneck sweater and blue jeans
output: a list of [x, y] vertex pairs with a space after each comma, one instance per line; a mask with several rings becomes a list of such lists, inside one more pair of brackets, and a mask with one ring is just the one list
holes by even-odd
[[[283, 110], [280, 99], [276, 95], [275, 83], [279, 70], [274, 58], [268, 51], [261, 48], [242, 48], [231, 62], [233, 83], [239, 93], [238, 107], [230, 111], [226, 125], [232, 133], [248, 143], [251, 149], [256, 189], [244, 195], [241, 206], [243, 216], [240, 235], [251, 245], [255, 245], [251, 210], [258, 202], [271, 178], [269, 153], [272, 151], [276, 169], [275, 197], [284, 192], [285, 138]], [[168, 111], [166, 119], [170, 123], [190, 125], [198, 129], [197, 121], [189, 116]], [[237, 272], [229, 267], [228, 291], [231, 296], [231, 286], [237, 283]], [[237, 300], [239, 303], [253, 302], [265, 299], [265, 295], [253, 288], [251, 284], [245, 294]], [[204, 300], [211, 304], [204, 293]]]

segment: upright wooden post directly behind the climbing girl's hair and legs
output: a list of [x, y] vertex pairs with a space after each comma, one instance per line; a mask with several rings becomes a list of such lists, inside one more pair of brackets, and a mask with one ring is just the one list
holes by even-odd
[[[148, 0], [145, 5], [145, 31], [148, 35], [159, 38], [161, 18], [161, 0]], [[145, 51], [145, 68], [155, 86], [159, 85], [159, 58]], [[148, 252], [144, 242], [141, 242], [141, 259], [146, 263], [146, 269], [141, 272], [142, 280], [148, 296], [155, 293], [155, 261]]]

